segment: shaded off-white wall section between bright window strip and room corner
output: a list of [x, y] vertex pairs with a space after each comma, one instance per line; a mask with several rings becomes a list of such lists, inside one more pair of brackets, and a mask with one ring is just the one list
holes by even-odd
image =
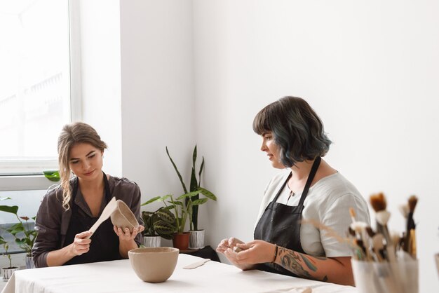
[[[121, 1], [123, 176], [143, 202], [189, 185], [194, 136], [191, 1]], [[154, 210], [157, 205], [145, 207]]]

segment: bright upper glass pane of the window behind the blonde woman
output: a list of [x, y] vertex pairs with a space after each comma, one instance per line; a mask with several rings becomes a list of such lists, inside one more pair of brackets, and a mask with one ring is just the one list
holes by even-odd
[[3, 186], [6, 175], [58, 169], [58, 135], [72, 121], [70, 13], [68, 0], [0, 1]]

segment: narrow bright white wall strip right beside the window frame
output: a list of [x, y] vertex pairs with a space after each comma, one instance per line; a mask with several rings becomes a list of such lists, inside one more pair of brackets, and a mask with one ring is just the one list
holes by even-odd
[[104, 172], [121, 176], [119, 0], [80, 1], [79, 7], [82, 121], [92, 125], [108, 145]]

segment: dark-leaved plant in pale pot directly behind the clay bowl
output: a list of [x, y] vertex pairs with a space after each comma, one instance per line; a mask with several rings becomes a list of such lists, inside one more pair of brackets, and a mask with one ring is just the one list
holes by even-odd
[[[148, 200], [147, 205], [155, 200]], [[175, 232], [175, 217], [166, 207], [160, 207], [155, 212], [142, 212], [144, 222], [143, 245], [146, 247], [160, 247], [161, 238], [172, 239]]]

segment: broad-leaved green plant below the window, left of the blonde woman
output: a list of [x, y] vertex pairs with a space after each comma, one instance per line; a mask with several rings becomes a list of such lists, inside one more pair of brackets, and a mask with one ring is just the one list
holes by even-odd
[[[11, 198], [0, 198], [0, 200], [8, 199]], [[32, 255], [32, 246], [34, 246], [35, 238], [38, 232], [29, 228], [29, 219], [35, 220], [35, 217], [19, 217], [17, 205], [0, 205], [0, 211], [15, 214], [15, 217], [17, 217], [18, 223], [5, 230], [11, 233], [11, 235], [15, 238], [15, 243], [17, 243], [22, 250], [25, 250], [26, 255], [30, 257]]]

